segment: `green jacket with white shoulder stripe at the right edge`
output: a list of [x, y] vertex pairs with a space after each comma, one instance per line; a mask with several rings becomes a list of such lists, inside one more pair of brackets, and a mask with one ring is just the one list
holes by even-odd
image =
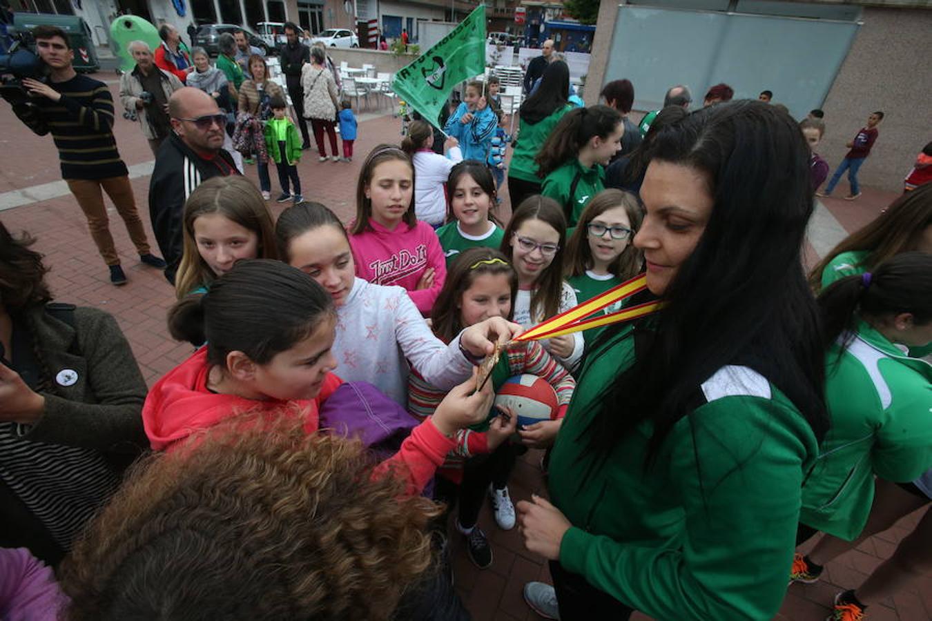
[[932, 365], [864, 321], [840, 351], [826, 355], [831, 428], [802, 488], [800, 521], [851, 541], [867, 523], [874, 475], [903, 483], [932, 467]]

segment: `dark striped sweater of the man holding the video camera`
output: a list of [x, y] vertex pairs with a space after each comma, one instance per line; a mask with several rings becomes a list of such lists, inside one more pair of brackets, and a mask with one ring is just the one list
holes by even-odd
[[[49, 82], [62, 93], [60, 101], [46, 97], [13, 107], [27, 127], [55, 139], [62, 164], [62, 179], [108, 179], [128, 174], [114, 140], [114, 100], [103, 82], [75, 75], [64, 82]], [[34, 105], [33, 105], [34, 104]]]

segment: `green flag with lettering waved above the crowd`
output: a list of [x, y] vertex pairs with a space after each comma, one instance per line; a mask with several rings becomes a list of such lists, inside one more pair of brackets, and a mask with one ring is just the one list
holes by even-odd
[[395, 74], [392, 88], [433, 124], [453, 87], [485, 71], [486, 7], [480, 5], [437, 45]]

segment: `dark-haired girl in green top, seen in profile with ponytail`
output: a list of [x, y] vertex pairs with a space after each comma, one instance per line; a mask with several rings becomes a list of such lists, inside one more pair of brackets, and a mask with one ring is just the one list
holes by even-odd
[[563, 207], [575, 226], [589, 200], [605, 189], [605, 166], [622, 148], [622, 115], [607, 105], [577, 108], [564, 115], [534, 161], [543, 178], [541, 194]]

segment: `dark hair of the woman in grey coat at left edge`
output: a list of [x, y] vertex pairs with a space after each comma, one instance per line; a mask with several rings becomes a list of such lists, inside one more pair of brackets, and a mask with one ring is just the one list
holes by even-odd
[[45, 283], [48, 268], [42, 254], [29, 247], [35, 238], [23, 232], [17, 238], [0, 222], [0, 304], [7, 312], [24, 310], [52, 299]]

